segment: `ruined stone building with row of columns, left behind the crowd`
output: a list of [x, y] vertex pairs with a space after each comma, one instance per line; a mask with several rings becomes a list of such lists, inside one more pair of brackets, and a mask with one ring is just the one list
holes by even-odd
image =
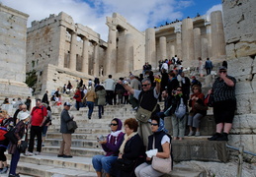
[[[94, 42], [98, 43], [96, 55], [92, 44]], [[50, 15], [40, 22], [33, 22], [32, 27], [28, 29], [26, 67], [27, 72], [37, 72], [39, 80], [35, 86], [35, 93], [43, 94], [44, 88], [52, 90], [63, 86], [65, 80], [59, 81], [60, 79], [56, 78], [54, 84], [51, 82], [52, 77], [44, 78], [47, 75], [44, 75], [46, 70], [43, 68], [48, 64], [61, 70], [68, 69], [71, 73], [70, 78], [73, 78], [72, 75], [87, 79], [94, 76], [94, 60], [97, 60], [97, 64], [101, 62], [104, 65], [102, 61], [106, 55], [106, 47], [107, 43], [100, 39], [100, 34], [88, 27], [75, 24], [73, 19], [63, 12], [57, 16]], [[90, 72], [89, 68], [92, 69]], [[97, 68], [99, 70], [100, 67]], [[55, 86], [57, 84], [58, 87]]]

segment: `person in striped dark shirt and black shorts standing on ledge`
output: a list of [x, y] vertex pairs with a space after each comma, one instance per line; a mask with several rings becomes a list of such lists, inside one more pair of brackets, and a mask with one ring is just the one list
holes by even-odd
[[213, 93], [213, 116], [216, 124], [216, 133], [208, 139], [210, 141], [228, 141], [236, 109], [235, 85], [235, 78], [227, 75], [226, 67], [221, 66], [213, 88], [208, 92]]

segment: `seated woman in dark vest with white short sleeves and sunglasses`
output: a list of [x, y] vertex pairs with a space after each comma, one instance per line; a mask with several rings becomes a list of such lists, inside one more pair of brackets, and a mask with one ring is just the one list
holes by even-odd
[[[168, 158], [171, 155], [170, 150], [170, 144], [171, 144], [171, 137], [164, 132], [164, 127], [160, 124], [161, 119], [158, 116], [152, 116], [151, 117], [151, 130], [153, 132], [153, 135], [150, 135], [148, 137], [148, 148], [147, 150], [151, 150], [154, 148], [157, 148], [157, 151], [155, 151], [155, 155], [159, 158]], [[154, 146], [153, 146], [153, 139]], [[162, 176], [163, 173], [160, 171], [156, 171], [152, 168], [151, 161], [152, 156], [146, 157], [146, 162], [140, 164], [135, 169], [135, 175], [136, 177], [147, 177], [147, 176]]]

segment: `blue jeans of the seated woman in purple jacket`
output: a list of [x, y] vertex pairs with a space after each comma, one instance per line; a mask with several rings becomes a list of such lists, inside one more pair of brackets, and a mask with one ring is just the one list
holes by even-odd
[[101, 172], [102, 169], [106, 173], [111, 172], [112, 164], [118, 159], [118, 156], [105, 156], [105, 155], [95, 155], [93, 156], [93, 167], [96, 171]]

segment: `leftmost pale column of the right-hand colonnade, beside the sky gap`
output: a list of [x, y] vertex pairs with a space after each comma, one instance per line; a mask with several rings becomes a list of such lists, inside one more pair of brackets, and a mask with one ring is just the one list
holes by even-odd
[[151, 64], [152, 68], [157, 67], [156, 49], [155, 49], [155, 30], [145, 30], [145, 62]]

